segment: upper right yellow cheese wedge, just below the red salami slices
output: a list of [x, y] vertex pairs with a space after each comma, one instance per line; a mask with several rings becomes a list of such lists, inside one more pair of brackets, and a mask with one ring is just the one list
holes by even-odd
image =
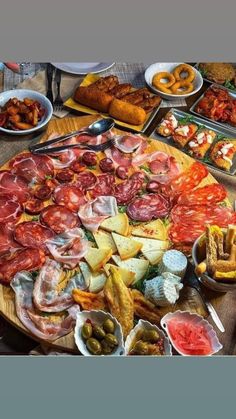
[[132, 228], [132, 235], [157, 240], [166, 240], [167, 232], [161, 220], [154, 220], [148, 224], [140, 224]]

